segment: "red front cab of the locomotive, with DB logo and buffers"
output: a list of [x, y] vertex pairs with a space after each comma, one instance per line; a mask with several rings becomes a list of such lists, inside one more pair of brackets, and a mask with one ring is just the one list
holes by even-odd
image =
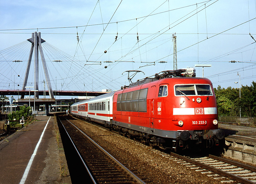
[[224, 138], [224, 132], [218, 129], [217, 104], [210, 80], [194, 77], [169, 80], [169, 84], [159, 85], [158, 99], [161, 101], [158, 114], [162, 115], [158, 128], [169, 125], [170, 131], [176, 131], [173, 148], [191, 142], [211, 147]]

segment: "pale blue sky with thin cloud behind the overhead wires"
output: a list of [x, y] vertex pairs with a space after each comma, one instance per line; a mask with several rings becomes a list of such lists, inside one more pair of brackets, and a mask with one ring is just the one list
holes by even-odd
[[[178, 69], [210, 64], [204, 77], [216, 88], [255, 80], [255, 0], [14, 0], [1, 1], [0, 16], [0, 89], [22, 89], [33, 32], [46, 41], [53, 90], [118, 90], [129, 84], [125, 71], [142, 71], [136, 82], [173, 70], [173, 34]], [[39, 90], [44, 80], [39, 56]], [[34, 86], [34, 55], [27, 86]]]

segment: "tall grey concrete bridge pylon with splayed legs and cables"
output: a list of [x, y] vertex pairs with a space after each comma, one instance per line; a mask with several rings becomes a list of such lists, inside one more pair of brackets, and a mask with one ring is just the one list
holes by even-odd
[[[34, 76], [35, 76], [34, 89], [38, 90], [38, 50], [39, 50], [40, 55], [41, 55], [42, 65], [43, 65], [44, 72], [45, 72], [45, 78], [46, 78], [46, 84], [47, 84], [48, 91], [49, 91], [49, 96], [50, 96], [50, 98], [54, 98], [52, 88], [51, 88], [51, 82], [50, 82], [50, 78], [49, 78], [49, 74], [48, 74], [48, 70], [47, 70], [47, 66], [46, 66], [46, 62], [45, 62], [45, 56], [44, 56], [44, 53], [42, 50], [42, 45], [41, 45], [42, 43], [45, 42], [45, 40], [41, 39], [41, 32], [38, 32], [38, 34], [37, 34], [37, 32], [32, 33], [32, 38], [27, 39], [27, 40], [29, 42], [31, 42], [31, 49], [30, 49], [30, 53], [29, 53], [28, 64], [27, 64], [27, 68], [26, 68], [26, 73], [25, 73], [25, 77], [24, 77], [22, 90], [25, 90], [25, 86], [27, 85], [28, 73], [29, 73], [29, 69], [30, 69], [33, 51], [34, 51], [34, 58], [35, 58], [35, 61], [34, 61], [35, 62], [35, 64], [34, 64]], [[24, 98], [24, 95], [22, 95], [20, 98]], [[38, 91], [35, 91], [35, 98], [39, 98]]]

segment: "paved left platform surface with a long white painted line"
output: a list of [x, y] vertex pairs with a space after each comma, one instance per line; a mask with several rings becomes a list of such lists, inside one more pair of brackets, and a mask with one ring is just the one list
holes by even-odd
[[36, 119], [39, 121], [0, 142], [1, 184], [71, 183], [67, 166], [61, 161], [64, 152], [59, 147], [55, 117]]

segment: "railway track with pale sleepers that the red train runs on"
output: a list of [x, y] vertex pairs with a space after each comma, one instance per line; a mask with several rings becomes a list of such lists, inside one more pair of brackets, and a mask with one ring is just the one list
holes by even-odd
[[[102, 126], [100, 127], [104, 128]], [[146, 146], [143, 143], [139, 143], [135, 140], [131, 141], [134, 141], [135, 144], [137, 144], [138, 146]], [[233, 160], [217, 157], [214, 155], [209, 155], [207, 157], [192, 158], [178, 155], [176, 153], [165, 153], [155, 148], [149, 147], [149, 149], [151, 149], [152, 153], [159, 154], [163, 157], [173, 160], [174, 162], [177, 162], [177, 164], [185, 165], [186, 167], [189, 167], [190, 169], [193, 169], [197, 172], [207, 174], [209, 177], [214, 177], [214, 179], [218, 180], [219, 182], [256, 182], [256, 168], [246, 164], [234, 162]]]

